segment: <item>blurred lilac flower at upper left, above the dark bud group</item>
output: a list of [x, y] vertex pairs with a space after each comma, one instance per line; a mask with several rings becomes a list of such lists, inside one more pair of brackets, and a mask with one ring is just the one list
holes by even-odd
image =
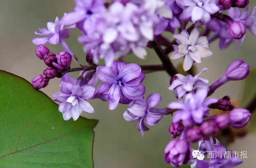
[[32, 42], [36, 45], [45, 44], [47, 42], [51, 44], [58, 44], [60, 40], [69, 37], [68, 28], [76, 28], [76, 25], [63, 28], [63, 25], [60, 24], [59, 18], [56, 17], [55, 23], [48, 22], [47, 28], [39, 28], [41, 33], [35, 31], [36, 35], [46, 36], [46, 37], [34, 38]]

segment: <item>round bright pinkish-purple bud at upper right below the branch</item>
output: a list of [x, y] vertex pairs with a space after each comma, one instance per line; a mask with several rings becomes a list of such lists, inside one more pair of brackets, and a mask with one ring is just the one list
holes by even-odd
[[246, 33], [244, 23], [241, 21], [234, 21], [228, 27], [228, 34], [235, 39], [241, 39]]

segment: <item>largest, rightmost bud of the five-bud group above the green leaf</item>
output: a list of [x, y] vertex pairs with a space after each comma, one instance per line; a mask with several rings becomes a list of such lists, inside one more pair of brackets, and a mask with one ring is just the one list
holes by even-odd
[[72, 61], [72, 56], [68, 52], [60, 52], [56, 55], [57, 63], [53, 62], [52, 65], [60, 70], [69, 69]]

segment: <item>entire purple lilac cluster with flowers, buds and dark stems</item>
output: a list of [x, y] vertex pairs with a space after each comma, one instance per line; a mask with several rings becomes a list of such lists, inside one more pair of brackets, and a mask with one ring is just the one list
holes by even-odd
[[[110, 110], [118, 104], [127, 104], [124, 120], [136, 121], [143, 136], [149, 130], [148, 125], [154, 126], [164, 115], [172, 114], [169, 132], [172, 138], [180, 139], [166, 146], [167, 163], [174, 167], [191, 163], [192, 168], [231, 168], [242, 163], [237, 158], [196, 160], [191, 157], [190, 142], [199, 141], [198, 151], [202, 154], [224, 151], [226, 148], [218, 140], [214, 144], [211, 136], [228, 127], [244, 127], [250, 121], [250, 111], [235, 108], [229, 96], [208, 98], [223, 84], [246, 78], [249, 65], [235, 60], [212, 85], [208, 85], [208, 79], [199, 77], [208, 68], [197, 75], [191, 75], [190, 71], [193, 64], [213, 55], [210, 50], [213, 40], [219, 38], [220, 49], [226, 49], [232, 42], [237, 46], [243, 44], [247, 29], [256, 35], [256, 7], [248, 14], [249, 0], [115, 0], [111, 3], [75, 0], [75, 3], [73, 12], [64, 13], [60, 20], [56, 17], [54, 23], [47, 23], [47, 28], [39, 28], [41, 33], [35, 34], [43, 37], [32, 40], [38, 45], [36, 56], [48, 66], [44, 75], [32, 79], [32, 84], [40, 89], [47, 86], [50, 79], [61, 78], [60, 92], [53, 97], [60, 103], [64, 120], [71, 117], [77, 120], [83, 111], [93, 113], [88, 100], [99, 98], [109, 102]], [[240, 12], [238, 8], [244, 10]], [[81, 31], [78, 42], [87, 52], [88, 65], [78, 61], [66, 42], [69, 30], [74, 28]], [[172, 33], [174, 40], [169, 41], [164, 32]], [[64, 52], [55, 55], [44, 45], [47, 42], [60, 44]], [[124, 61], [129, 54], [145, 59], [146, 47], [156, 51], [163, 65], [139, 66]], [[181, 75], [173, 67], [171, 60], [181, 58], [184, 71], [191, 74]], [[99, 64], [100, 59], [105, 60], [104, 65]], [[72, 60], [79, 67], [70, 68]], [[144, 72], [158, 70], [166, 70], [172, 76], [168, 89], [174, 91], [178, 99], [166, 108], [156, 108], [162, 99], [160, 94], [144, 95]], [[73, 71], [80, 71], [77, 80], [68, 75]], [[99, 80], [102, 83], [95, 88]], [[211, 116], [210, 108], [227, 113]]]

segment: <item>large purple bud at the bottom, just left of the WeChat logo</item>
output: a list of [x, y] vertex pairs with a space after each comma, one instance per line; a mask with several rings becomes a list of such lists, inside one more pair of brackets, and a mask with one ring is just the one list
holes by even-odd
[[192, 156], [192, 148], [187, 140], [172, 140], [164, 149], [165, 161], [174, 167], [187, 164]]

